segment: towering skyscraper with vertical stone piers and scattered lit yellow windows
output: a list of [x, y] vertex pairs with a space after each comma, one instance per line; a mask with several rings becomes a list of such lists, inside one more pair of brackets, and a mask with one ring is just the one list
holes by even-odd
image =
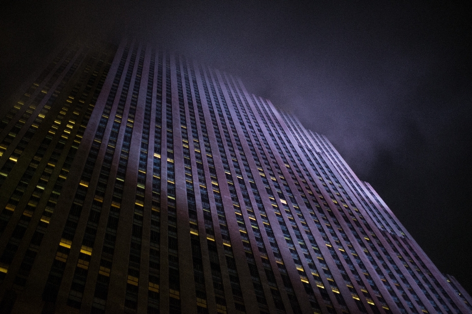
[[1, 313], [472, 313], [324, 136], [232, 76], [69, 45], [1, 110]]

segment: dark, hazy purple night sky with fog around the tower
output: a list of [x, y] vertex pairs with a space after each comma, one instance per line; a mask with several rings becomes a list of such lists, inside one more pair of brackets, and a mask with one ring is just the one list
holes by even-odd
[[64, 40], [198, 58], [326, 135], [472, 292], [470, 1], [132, 2], [2, 1], [0, 105]]

